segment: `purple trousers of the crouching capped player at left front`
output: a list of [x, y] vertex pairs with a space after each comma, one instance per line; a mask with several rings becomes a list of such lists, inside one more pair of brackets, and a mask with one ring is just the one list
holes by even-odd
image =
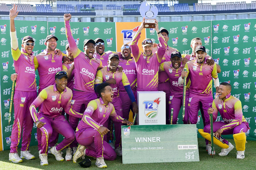
[[40, 113], [38, 119], [41, 122], [46, 123], [42, 128], [40, 128], [42, 133], [42, 154], [48, 153], [48, 141], [51, 139], [53, 129], [65, 137], [59, 145], [56, 146], [56, 150], [61, 151], [67, 148], [70, 143], [75, 140], [75, 132], [71, 128], [65, 116], [60, 115], [56, 118], [49, 118]]

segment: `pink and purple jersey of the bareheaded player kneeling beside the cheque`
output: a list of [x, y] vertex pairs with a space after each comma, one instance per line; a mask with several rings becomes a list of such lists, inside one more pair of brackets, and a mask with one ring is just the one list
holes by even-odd
[[85, 109], [82, 120], [79, 122], [76, 131], [93, 127], [98, 130], [109, 117], [114, 122], [121, 123], [124, 119], [115, 112], [114, 105], [105, 105], [101, 98], [92, 100]]

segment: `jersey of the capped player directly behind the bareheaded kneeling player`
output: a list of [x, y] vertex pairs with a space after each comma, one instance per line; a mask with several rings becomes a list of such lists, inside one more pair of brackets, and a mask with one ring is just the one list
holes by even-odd
[[[118, 70], [118, 68], [117, 68]], [[124, 86], [130, 85], [127, 76], [124, 72], [112, 72], [109, 70], [109, 66], [104, 67], [103, 69], [99, 70], [96, 75], [95, 84], [101, 84], [106, 80], [114, 78], [116, 80], [116, 84], [110, 84], [114, 91], [114, 98], [119, 97], [119, 84], [120, 82], [123, 83]]]

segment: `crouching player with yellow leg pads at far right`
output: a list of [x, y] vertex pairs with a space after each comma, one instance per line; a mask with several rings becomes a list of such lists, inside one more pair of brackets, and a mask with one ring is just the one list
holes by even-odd
[[[223, 139], [221, 135], [233, 134], [237, 148], [237, 159], [244, 158], [245, 142], [249, 128], [248, 122], [245, 120], [242, 112], [241, 101], [230, 94], [231, 85], [229, 83], [221, 83], [219, 85], [218, 98], [212, 102], [212, 107], [208, 109], [208, 114], [213, 114], [213, 121], [216, 120], [218, 112], [224, 121], [213, 122], [214, 139], [213, 142], [223, 148], [219, 156], [226, 156], [234, 146]], [[204, 129], [199, 129], [198, 132], [206, 139], [211, 141], [210, 124], [204, 126]], [[211, 154], [211, 148], [208, 148], [208, 154]]]

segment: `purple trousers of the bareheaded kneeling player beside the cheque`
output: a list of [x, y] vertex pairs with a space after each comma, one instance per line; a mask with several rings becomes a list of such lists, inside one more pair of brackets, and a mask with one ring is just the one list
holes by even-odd
[[95, 158], [103, 156], [105, 160], [115, 160], [115, 151], [94, 128], [80, 129], [75, 133], [75, 137], [80, 145], [87, 147], [85, 152], [87, 156]]

